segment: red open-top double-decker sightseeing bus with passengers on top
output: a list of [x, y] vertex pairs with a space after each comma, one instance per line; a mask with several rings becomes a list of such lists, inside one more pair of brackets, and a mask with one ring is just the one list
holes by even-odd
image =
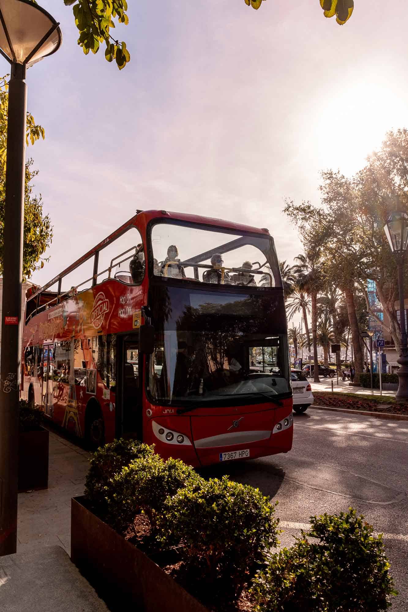
[[292, 447], [268, 230], [137, 211], [29, 291], [22, 397], [89, 446], [137, 438], [194, 466]]

